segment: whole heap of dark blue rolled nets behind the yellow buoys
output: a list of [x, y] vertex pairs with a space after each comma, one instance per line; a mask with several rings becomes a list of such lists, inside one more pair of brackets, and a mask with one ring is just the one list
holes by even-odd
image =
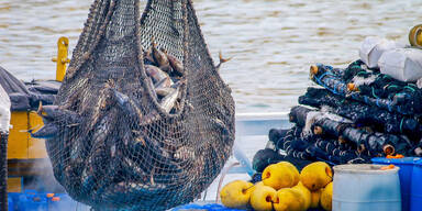
[[276, 149], [332, 165], [422, 156], [422, 89], [417, 84], [396, 80], [362, 60], [344, 69], [318, 64], [310, 71], [323, 88], [310, 87], [299, 97], [302, 106], [289, 114], [296, 125], [273, 140]]

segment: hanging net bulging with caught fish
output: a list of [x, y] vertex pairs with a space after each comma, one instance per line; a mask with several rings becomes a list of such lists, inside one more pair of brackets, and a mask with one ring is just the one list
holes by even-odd
[[190, 0], [96, 0], [55, 106], [42, 106], [54, 175], [96, 210], [196, 199], [234, 141], [234, 102]]

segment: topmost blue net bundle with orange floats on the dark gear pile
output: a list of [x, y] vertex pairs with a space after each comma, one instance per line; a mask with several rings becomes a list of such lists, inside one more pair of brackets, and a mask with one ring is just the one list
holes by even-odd
[[318, 85], [344, 98], [404, 115], [421, 115], [422, 89], [415, 84], [398, 81], [377, 69], [368, 69], [362, 60], [346, 69], [319, 64], [311, 69]]

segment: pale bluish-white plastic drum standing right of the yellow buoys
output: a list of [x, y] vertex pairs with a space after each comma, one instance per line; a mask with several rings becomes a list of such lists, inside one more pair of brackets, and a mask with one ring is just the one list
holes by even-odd
[[333, 211], [401, 211], [399, 167], [334, 166]]

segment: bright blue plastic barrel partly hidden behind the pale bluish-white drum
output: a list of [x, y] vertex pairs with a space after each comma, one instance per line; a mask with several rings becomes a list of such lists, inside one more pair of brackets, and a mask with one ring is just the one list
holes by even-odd
[[376, 157], [371, 159], [374, 164], [380, 165], [395, 165], [400, 167], [399, 177], [401, 186], [401, 204], [403, 211], [410, 210], [410, 191], [412, 185], [412, 173], [413, 165], [418, 160], [421, 160], [420, 157], [404, 157], [404, 158], [384, 158]]

